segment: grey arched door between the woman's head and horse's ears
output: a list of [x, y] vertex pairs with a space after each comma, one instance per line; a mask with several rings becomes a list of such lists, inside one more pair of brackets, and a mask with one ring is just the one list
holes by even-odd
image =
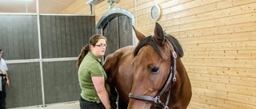
[[107, 38], [105, 57], [117, 49], [133, 45], [131, 18], [126, 15], [113, 18], [103, 27], [103, 36]]

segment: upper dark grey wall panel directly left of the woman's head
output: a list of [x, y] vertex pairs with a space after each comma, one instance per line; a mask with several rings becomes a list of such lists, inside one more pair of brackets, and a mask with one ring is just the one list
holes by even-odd
[[42, 58], [78, 56], [82, 46], [95, 33], [92, 16], [40, 17]]

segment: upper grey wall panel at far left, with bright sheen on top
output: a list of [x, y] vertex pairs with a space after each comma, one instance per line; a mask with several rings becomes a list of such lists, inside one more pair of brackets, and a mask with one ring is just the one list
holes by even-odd
[[0, 48], [8, 60], [34, 59], [38, 52], [35, 15], [0, 15]]

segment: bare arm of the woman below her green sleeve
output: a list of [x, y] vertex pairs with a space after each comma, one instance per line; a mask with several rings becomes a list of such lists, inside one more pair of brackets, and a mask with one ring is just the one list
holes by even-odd
[[93, 80], [94, 88], [97, 91], [99, 99], [101, 99], [106, 109], [110, 109], [110, 97], [105, 88], [104, 76], [93, 76], [91, 78]]

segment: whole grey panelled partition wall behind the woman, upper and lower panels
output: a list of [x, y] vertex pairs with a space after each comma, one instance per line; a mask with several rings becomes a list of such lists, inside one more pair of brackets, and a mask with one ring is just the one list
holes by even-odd
[[40, 59], [37, 16], [0, 15], [0, 48], [10, 76], [7, 107], [79, 99], [76, 58], [95, 33], [94, 19], [94, 16], [40, 15]]

